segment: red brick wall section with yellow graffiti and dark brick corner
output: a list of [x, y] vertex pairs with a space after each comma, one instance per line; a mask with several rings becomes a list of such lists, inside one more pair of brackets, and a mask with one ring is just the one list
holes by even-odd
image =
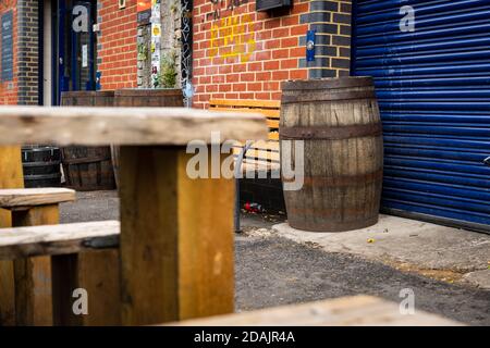
[[[348, 74], [351, 1], [293, 0], [293, 7], [256, 12], [254, 0], [194, 1], [194, 107], [211, 98], [281, 98], [287, 79]], [[306, 33], [317, 32], [316, 59], [306, 62]]]

